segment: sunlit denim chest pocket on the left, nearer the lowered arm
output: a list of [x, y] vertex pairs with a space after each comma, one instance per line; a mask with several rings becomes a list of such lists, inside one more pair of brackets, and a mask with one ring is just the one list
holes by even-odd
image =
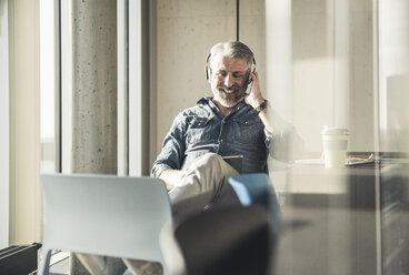
[[212, 122], [209, 118], [193, 118], [188, 122], [187, 143], [198, 143], [211, 140]]

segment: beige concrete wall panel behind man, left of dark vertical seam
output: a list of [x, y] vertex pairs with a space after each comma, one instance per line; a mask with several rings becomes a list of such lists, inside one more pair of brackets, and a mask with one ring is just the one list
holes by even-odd
[[157, 154], [174, 116], [211, 95], [205, 64], [210, 48], [236, 39], [235, 0], [157, 1]]

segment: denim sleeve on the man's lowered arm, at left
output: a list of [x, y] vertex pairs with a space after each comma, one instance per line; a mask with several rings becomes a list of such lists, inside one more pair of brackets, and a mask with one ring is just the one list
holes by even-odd
[[180, 113], [163, 140], [162, 151], [153, 163], [151, 176], [158, 177], [164, 170], [181, 169], [186, 150], [184, 124], [183, 116]]

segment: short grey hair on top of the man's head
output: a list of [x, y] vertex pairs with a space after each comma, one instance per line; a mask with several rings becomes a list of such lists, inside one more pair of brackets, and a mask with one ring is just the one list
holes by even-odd
[[211, 63], [212, 59], [219, 54], [227, 55], [233, 59], [245, 59], [249, 69], [251, 68], [255, 60], [255, 54], [252, 53], [250, 48], [239, 41], [220, 42], [215, 44], [210, 50], [209, 63]]

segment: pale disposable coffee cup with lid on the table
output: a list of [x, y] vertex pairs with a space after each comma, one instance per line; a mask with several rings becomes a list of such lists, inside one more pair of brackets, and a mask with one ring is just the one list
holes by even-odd
[[326, 169], [345, 167], [347, 162], [348, 131], [345, 128], [323, 128], [322, 150]]

